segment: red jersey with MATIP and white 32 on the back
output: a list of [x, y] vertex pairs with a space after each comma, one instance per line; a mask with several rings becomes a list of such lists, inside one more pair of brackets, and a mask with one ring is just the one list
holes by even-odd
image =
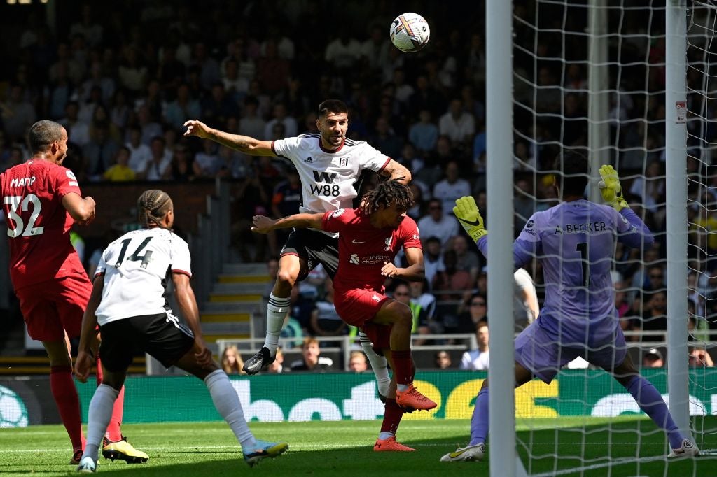
[[15, 289], [85, 274], [70, 243], [72, 217], [62, 206], [62, 196], [73, 192], [82, 196], [72, 171], [47, 160], [29, 160], [0, 175]]

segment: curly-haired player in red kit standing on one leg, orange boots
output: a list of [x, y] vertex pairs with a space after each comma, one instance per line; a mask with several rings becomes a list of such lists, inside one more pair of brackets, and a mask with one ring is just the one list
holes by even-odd
[[[255, 216], [252, 227], [257, 233], [289, 227], [338, 232], [338, 270], [333, 281], [336, 312], [346, 323], [364, 329], [374, 347], [384, 350], [394, 371], [384, 423], [374, 445], [378, 451], [414, 450], [396, 441], [404, 410], [436, 407], [413, 385], [411, 309], [384, 294], [386, 277], [419, 281], [424, 276], [421, 237], [415, 221], [406, 215], [412, 205], [410, 188], [399, 179], [391, 179], [364, 194], [359, 208], [298, 213], [279, 219]], [[393, 263], [401, 248], [408, 261], [406, 268]]]

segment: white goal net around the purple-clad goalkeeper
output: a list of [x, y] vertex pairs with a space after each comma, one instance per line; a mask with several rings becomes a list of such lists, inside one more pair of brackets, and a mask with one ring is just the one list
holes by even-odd
[[[673, 397], [670, 411], [680, 430], [707, 456], [668, 460], [665, 431], [630, 392], [609, 373], [574, 360], [550, 385], [533, 380], [516, 390], [517, 452], [531, 475], [652, 476], [679, 468], [680, 475], [696, 476], [717, 466], [708, 462], [717, 448], [717, 418], [711, 418], [717, 415], [717, 368], [711, 368], [717, 359], [717, 6], [695, 1], [683, 8], [687, 95], [668, 104], [666, 77], [674, 65], [665, 21], [674, 3], [513, 2], [513, 226], [518, 236], [533, 213], [558, 203], [553, 163], [562, 150], [589, 157], [587, 196], [598, 203], [597, 169], [614, 166], [627, 202], [655, 238], [632, 249], [618, 243], [614, 251], [610, 274], [627, 355], [666, 402]], [[670, 177], [668, 157], [680, 157], [680, 149], [666, 146], [670, 127], [678, 137], [680, 127], [687, 130], [680, 177]], [[676, 206], [687, 209], [689, 225], [677, 230], [670, 228], [675, 203], [668, 202], [668, 188], [685, 177], [688, 197]], [[684, 251], [672, 261], [668, 244], [680, 239]], [[686, 276], [676, 274], [685, 283], [668, 281], [675, 264], [687, 265]], [[529, 271], [542, 303], [538, 260]], [[681, 307], [685, 292], [684, 309], [670, 316], [669, 301]], [[680, 327], [688, 327], [684, 339], [674, 332]], [[686, 370], [675, 364], [683, 362]], [[673, 394], [680, 388], [682, 394]], [[683, 396], [688, 402], [677, 403]]]

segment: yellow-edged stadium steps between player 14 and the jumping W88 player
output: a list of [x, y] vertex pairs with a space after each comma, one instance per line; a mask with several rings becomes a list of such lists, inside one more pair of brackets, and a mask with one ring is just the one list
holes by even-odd
[[252, 316], [260, 312], [270, 278], [265, 264], [224, 264], [201, 307], [201, 329], [207, 342], [251, 337]]

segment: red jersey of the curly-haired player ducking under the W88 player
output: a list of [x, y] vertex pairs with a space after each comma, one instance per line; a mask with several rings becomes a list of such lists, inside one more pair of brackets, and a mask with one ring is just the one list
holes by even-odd
[[421, 248], [418, 226], [408, 216], [398, 228], [376, 228], [361, 209], [340, 208], [324, 214], [323, 230], [338, 232], [338, 271], [333, 280], [336, 290], [383, 292], [384, 263], [394, 261], [402, 247]]

